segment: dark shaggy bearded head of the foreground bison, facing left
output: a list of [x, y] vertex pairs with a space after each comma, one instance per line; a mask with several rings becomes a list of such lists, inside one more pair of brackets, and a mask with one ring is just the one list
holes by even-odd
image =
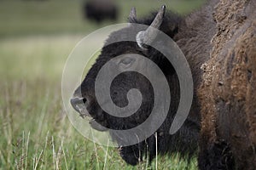
[[[137, 30], [137, 28], [131, 24], [124, 29], [113, 32], [108, 37], [108, 40], [106, 41], [107, 45], [105, 44], [102, 48], [102, 53], [96, 59], [96, 63], [92, 65], [90, 71], [84, 78], [84, 81], [74, 92], [73, 99], [71, 99], [73, 108], [79, 112], [80, 116], [92, 117], [90, 121], [91, 127], [99, 131], [108, 129], [119, 130], [119, 133], [110, 130], [110, 134], [113, 140], [119, 144], [120, 155], [122, 158], [131, 165], [135, 165], [138, 161], [142, 160], [143, 153], [147, 152], [149, 153], [149, 161], [151, 161], [155, 156], [156, 144], [161, 153], [177, 150], [195, 150], [196, 147], [199, 128], [197, 125], [194, 125], [193, 122], [186, 121], [176, 134], [169, 134], [173, 116], [177, 111], [180, 95], [177, 74], [173, 69], [172, 64], [163, 54], [155, 48], [146, 45], [154, 42], [155, 38], [158, 36], [152, 30], [152, 27], [164, 31], [169, 37], [172, 37], [177, 31], [176, 27], [171, 30], [166, 28], [169, 28], [169, 25], [168, 18], [165, 17], [165, 10], [166, 8], [163, 6], [153, 18], [139, 21], [137, 20], [135, 8], [132, 8], [129, 17], [130, 21], [148, 25], [148, 29], [143, 31]], [[118, 37], [131, 37], [134, 41], [115, 42]], [[123, 144], [127, 143], [131, 138], [137, 138], [137, 136], [136, 134], [124, 135], [121, 130], [131, 129], [145, 122], [153, 110], [155, 102], [154, 88], [147, 77], [134, 71], [127, 71], [129, 70], [128, 68], [141, 66], [137, 55], [150, 59], [159, 66], [166, 77], [169, 87], [171, 87], [169, 94], [172, 95], [172, 100], [171, 103], [168, 104], [168, 107], [170, 107], [166, 119], [158, 129], [155, 129], [156, 133], [153, 133], [150, 137], [137, 144], [123, 146]], [[111, 82], [110, 97], [114, 105], [121, 108], [129, 105], [127, 93], [133, 88], [136, 88], [142, 94], [140, 107], [131, 116], [113, 116], [106, 111], [103, 111], [96, 99], [96, 77], [102, 66], [108, 63], [108, 61], [111, 61], [111, 65], [122, 72], [117, 77], [114, 77], [113, 82]], [[157, 78], [158, 77], [155, 77], [155, 79]], [[102, 87], [103, 86], [104, 84], [102, 84]], [[154, 123], [154, 120], [152, 120], [151, 123]], [[189, 132], [188, 129], [191, 129], [192, 126], [194, 126], [194, 130], [192, 129]], [[191, 135], [188, 133], [196, 134]], [[155, 140], [156, 136], [158, 139], [157, 143]]]

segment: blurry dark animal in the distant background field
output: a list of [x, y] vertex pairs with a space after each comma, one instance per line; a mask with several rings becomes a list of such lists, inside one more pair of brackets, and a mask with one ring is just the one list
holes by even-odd
[[117, 20], [118, 7], [111, 0], [89, 0], [84, 3], [84, 18], [96, 20], [100, 23], [102, 20]]

